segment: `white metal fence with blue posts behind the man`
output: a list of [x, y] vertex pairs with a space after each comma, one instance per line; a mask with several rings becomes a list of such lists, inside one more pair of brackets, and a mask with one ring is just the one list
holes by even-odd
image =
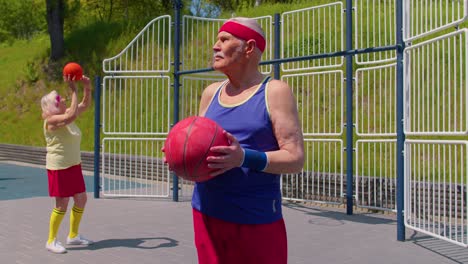
[[[399, 240], [405, 224], [468, 245], [467, 14], [468, 0], [356, 0], [255, 18], [261, 71], [290, 85], [305, 138], [284, 199], [396, 211]], [[102, 195], [190, 199], [193, 184], [169, 177], [160, 149], [225, 78], [210, 68], [224, 21], [176, 5], [174, 21], [154, 19], [103, 61]], [[428, 172], [446, 169], [454, 176]]]

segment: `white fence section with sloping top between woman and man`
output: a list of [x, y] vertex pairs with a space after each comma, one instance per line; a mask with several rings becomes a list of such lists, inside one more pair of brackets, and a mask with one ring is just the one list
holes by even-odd
[[173, 108], [171, 32], [171, 17], [158, 17], [122, 52], [103, 61], [103, 196], [170, 197], [161, 148]]

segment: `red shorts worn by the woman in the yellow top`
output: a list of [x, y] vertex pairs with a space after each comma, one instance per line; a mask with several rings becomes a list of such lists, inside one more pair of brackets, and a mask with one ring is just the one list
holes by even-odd
[[49, 196], [71, 197], [86, 191], [81, 164], [63, 170], [47, 170]]

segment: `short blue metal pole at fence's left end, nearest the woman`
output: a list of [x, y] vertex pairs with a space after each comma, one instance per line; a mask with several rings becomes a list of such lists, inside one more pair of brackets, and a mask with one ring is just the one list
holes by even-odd
[[101, 77], [94, 84], [94, 198], [99, 198], [99, 157], [101, 150]]

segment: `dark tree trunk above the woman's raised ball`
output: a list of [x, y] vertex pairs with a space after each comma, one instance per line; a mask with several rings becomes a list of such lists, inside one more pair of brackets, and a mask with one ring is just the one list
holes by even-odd
[[63, 22], [64, 0], [46, 0], [47, 30], [50, 37], [50, 59], [57, 61], [65, 54]]

